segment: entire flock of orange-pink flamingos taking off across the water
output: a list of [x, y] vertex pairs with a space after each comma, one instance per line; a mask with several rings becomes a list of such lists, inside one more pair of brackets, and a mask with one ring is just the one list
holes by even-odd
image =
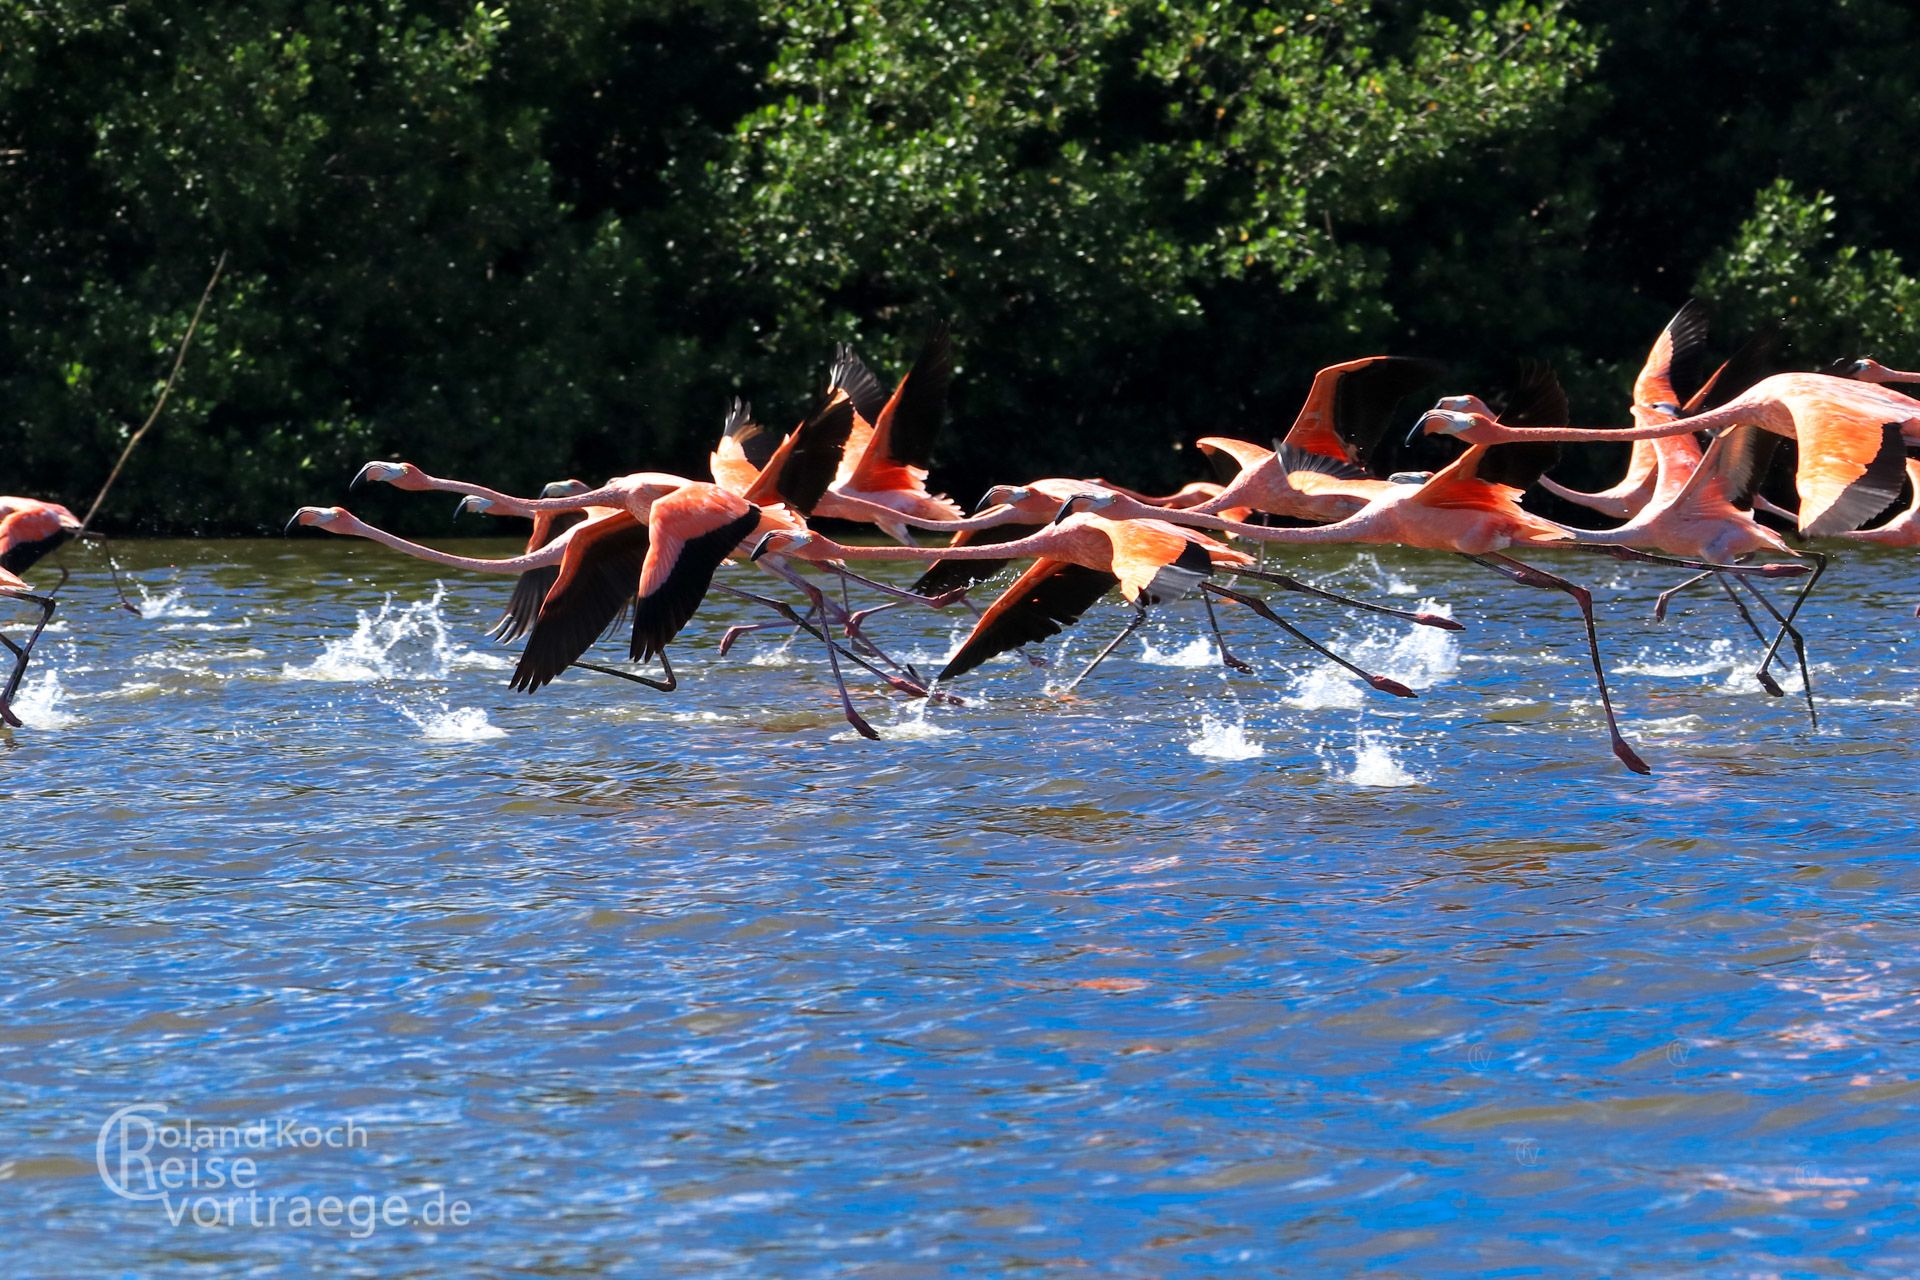
[[[1772, 697], [1786, 695], [1772, 674], [1786, 645], [1816, 723], [1797, 618], [1830, 557], [1805, 539], [1920, 545], [1920, 459], [1908, 459], [1908, 451], [1920, 453], [1920, 399], [1899, 390], [1920, 382], [1920, 374], [1872, 359], [1836, 361], [1822, 372], [1774, 372], [1770, 344], [1759, 340], [1695, 378], [1705, 367], [1705, 313], [1688, 303], [1655, 338], [1632, 386], [1632, 424], [1620, 428], [1569, 426], [1567, 395], [1544, 367], [1528, 367], [1500, 411], [1478, 395], [1442, 395], [1425, 413], [1407, 415], [1407, 439], [1457, 439], [1457, 455], [1434, 472], [1396, 474], [1375, 466], [1382, 441], [1402, 405], [1438, 388], [1444, 368], [1394, 355], [1344, 361], [1313, 378], [1300, 413], [1271, 447], [1202, 438], [1198, 447], [1219, 468], [1217, 482], [1146, 495], [1096, 478], [1039, 478], [995, 486], [966, 514], [927, 487], [954, 370], [950, 336], [937, 326], [891, 393], [851, 347], [835, 349], [820, 405], [785, 434], [762, 426], [751, 405], [735, 399], [708, 478], [639, 470], [599, 486], [563, 480], [538, 497], [515, 497], [432, 476], [413, 462], [374, 461], [349, 486], [455, 493], [459, 510], [530, 520], [526, 551], [516, 557], [424, 547], [344, 507], [301, 507], [288, 528], [311, 526], [430, 564], [515, 578], [492, 635], [501, 643], [524, 639], [509, 683], [526, 693], [568, 670], [672, 691], [678, 679], [668, 647], [708, 595], [724, 593], [764, 610], [766, 620], [730, 628], [720, 652], [764, 628], [804, 631], [824, 649], [841, 710], [864, 737], [877, 733], [854, 704], [849, 668], [900, 695], [960, 702], [956, 683], [995, 656], [1023, 652], [1044, 666], [1027, 647], [1075, 626], [1114, 591], [1131, 616], [1058, 695], [1077, 689], [1152, 608], [1194, 599], [1221, 664], [1235, 672], [1252, 666], [1229, 647], [1217, 606], [1248, 610], [1379, 693], [1411, 699], [1405, 685], [1363, 670], [1283, 616], [1275, 593], [1317, 597], [1411, 626], [1461, 624], [1442, 612], [1329, 591], [1269, 570], [1267, 557], [1290, 545], [1332, 543], [1453, 553], [1517, 585], [1572, 599], [1611, 750], [1628, 770], [1647, 773], [1647, 762], [1620, 733], [1592, 593], [1521, 555], [1584, 551], [1688, 570], [1661, 593], [1657, 618], [1674, 595], [1711, 581], [1761, 645], [1755, 681]], [[1791, 447], [1780, 449], [1786, 441]], [[1628, 445], [1624, 476], [1601, 491], [1567, 487], [1548, 476], [1563, 443]], [[1774, 489], [1791, 489], [1797, 499], [1791, 507], [1761, 493], [1774, 472]], [[1549, 520], [1523, 505], [1534, 487], [1617, 524], [1590, 530]], [[1864, 528], [1889, 509], [1889, 518]], [[1763, 524], [1761, 516], [1786, 528]], [[866, 524], [891, 543], [835, 541], [812, 528], [816, 520]], [[0, 635], [13, 656], [0, 695], [0, 720], [8, 723], [17, 723], [8, 702], [54, 608], [52, 597], [31, 591], [19, 572], [77, 532], [61, 507], [0, 499], [0, 597], [40, 610], [25, 643]], [[924, 547], [916, 533], [945, 535], [945, 543]], [[870, 560], [920, 564], [924, 572], [899, 587], [851, 568]], [[737, 568], [722, 578], [728, 564]], [[1016, 566], [1018, 574], [989, 603], [970, 599]], [[764, 574], [760, 589], [747, 589], [741, 574]], [[1763, 587], [1766, 580], [1797, 580], [1797, 589], [1791, 599], [1774, 599]], [[879, 603], [856, 606], [856, 593]], [[872, 618], [902, 606], [975, 614], [972, 631], [931, 677], [893, 658], [874, 635]], [[589, 662], [591, 647], [626, 614], [628, 666]], [[660, 674], [643, 674], [655, 662]]]

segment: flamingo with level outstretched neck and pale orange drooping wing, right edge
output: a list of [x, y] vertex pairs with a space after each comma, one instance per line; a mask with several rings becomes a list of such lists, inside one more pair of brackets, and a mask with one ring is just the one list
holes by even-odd
[[1920, 401], [1866, 382], [1788, 372], [1761, 378], [1718, 409], [1670, 422], [1515, 428], [1473, 409], [1430, 409], [1415, 430], [1467, 443], [1565, 443], [1659, 439], [1740, 424], [1799, 441], [1795, 520], [1801, 533], [1824, 537], [1859, 528], [1899, 495], [1905, 445], [1920, 443]]

